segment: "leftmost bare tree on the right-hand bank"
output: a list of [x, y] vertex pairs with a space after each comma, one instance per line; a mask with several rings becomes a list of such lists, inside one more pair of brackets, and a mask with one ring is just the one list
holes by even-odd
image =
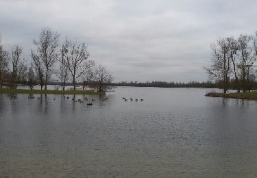
[[225, 39], [219, 39], [217, 44], [212, 44], [212, 65], [206, 67], [206, 71], [211, 79], [223, 81], [223, 92], [228, 90], [230, 81], [230, 58], [229, 47]]

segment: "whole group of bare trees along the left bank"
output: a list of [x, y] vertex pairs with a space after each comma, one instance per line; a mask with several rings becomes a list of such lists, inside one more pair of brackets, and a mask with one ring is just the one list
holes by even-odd
[[77, 82], [85, 86], [94, 81], [99, 92], [110, 90], [114, 78], [104, 66], [96, 65], [88, 60], [90, 53], [84, 42], [72, 41], [68, 37], [60, 44], [60, 34], [49, 27], [42, 28], [38, 39], [33, 40], [29, 58], [23, 58], [23, 48], [16, 44], [12, 50], [5, 51], [0, 39], [0, 79], [12, 89], [17, 84], [27, 84], [31, 90], [39, 84], [41, 90], [51, 82], [53, 75], [60, 79], [61, 90], [65, 90], [66, 82], [71, 81], [73, 90]]

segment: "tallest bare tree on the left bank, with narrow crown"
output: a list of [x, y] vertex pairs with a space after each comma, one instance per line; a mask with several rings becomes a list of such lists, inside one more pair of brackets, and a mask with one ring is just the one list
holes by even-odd
[[45, 73], [45, 90], [47, 90], [48, 81], [53, 73], [53, 66], [58, 58], [59, 36], [60, 34], [46, 27], [40, 31], [38, 40], [34, 40], [40, 60], [40, 68]]

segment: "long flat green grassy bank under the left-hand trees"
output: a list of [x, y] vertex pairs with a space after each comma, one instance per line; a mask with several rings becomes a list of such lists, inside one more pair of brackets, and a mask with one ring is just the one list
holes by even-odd
[[86, 90], [23, 90], [23, 89], [0, 89], [0, 93], [7, 94], [101, 94], [100, 92]]

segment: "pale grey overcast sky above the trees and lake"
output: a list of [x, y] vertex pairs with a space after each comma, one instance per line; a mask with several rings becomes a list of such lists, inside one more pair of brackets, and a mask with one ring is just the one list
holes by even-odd
[[42, 27], [85, 42], [115, 81], [206, 81], [210, 44], [254, 34], [256, 0], [0, 0], [1, 43], [29, 58]]

